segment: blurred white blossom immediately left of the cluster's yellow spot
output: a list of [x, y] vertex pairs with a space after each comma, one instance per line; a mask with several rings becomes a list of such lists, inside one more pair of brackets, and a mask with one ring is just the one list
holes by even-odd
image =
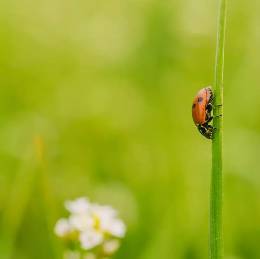
[[79, 231], [84, 231], [94, 228], [95, 220], [87, 213], [72, 214], [69, 217], [70, 224]]

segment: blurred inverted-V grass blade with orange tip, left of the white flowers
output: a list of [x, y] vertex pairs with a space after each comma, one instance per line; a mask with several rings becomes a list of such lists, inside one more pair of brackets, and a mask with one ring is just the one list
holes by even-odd
[[[44, 207], [47, 229], [52, 245], [53, 258], [61, 258], [62, 249], [55, 239], [53, 228], [57, 220], [56, 206], [51, 191], [48, 168], [44, 154], [44, 142], [41, 137], [34, 138], [35, 155], [24, 162], [10, 187], [1, 220], [0, 258], [11, 259], [30, 195], [40, 176], [40, 193]], [[39, 205], [40, 206], [40, 205]]]

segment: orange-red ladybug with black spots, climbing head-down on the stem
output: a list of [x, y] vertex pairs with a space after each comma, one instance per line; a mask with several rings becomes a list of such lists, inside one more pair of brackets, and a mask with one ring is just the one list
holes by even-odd
[[211, 86], [201, 89], [192, 103], [193, 121], [198, 127], [199, 132], [209, 139], [212, 139], [212, 130], [218, 129], [209, 125], [209, 122], [214, 118], [222, 116], [222, 114], [216, 117], [211, 115], [211, 111], [218, 106], [222, 106], [222, 104], [213, 105], [213, 92]]

